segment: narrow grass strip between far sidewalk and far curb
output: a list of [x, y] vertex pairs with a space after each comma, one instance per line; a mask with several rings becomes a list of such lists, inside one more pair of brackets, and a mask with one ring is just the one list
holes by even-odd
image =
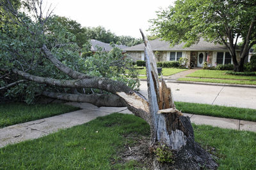
[[214, 78], [179, 78], [179, 81], [196, 81], [206, 83], [227, 83], [240, 85], [256, 85], [255, 80], [228, 80], [228, 79], [214, 79]]

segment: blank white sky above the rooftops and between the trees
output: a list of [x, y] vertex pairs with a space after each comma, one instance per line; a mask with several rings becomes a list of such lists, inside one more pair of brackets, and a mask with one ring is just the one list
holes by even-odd
[[[56, 6], [54, 14], [76, 20], [85, 27], [99, 25], [117, 36], [141, 38], [139, 29], [148, 29], [148, 20], [156, 18], [159, 8], [174, 0], [45, 0]], [[147, 32], [146, 32], [147, 34]]]

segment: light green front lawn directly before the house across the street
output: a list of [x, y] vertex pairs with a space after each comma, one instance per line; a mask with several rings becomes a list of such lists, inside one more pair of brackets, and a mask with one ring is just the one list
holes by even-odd
[[236, 79], [236, 80], [256, 80], [256, 76], [236, 76], [225, 74], [227, 70], [207, 70], [200, 69], [194, 73], [188, 74], [187, 77], [198, 77], [198, 78], [221, 78], [221, 79]]

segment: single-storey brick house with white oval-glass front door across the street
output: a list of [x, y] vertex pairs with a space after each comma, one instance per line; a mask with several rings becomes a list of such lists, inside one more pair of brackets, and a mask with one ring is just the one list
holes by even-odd
[[[157, 61], [179, 61], [181, 57], [186, 57], [188, 58], [188, 63], [193, 63], [195, 67], [203, 67], [206, 61], [208, 66], [232, 64], [232, 57], [225, 45], [209, 43], [202, 38], [197, 44], [191, 45], [188, 48], [183, 47], [185, 43], [170, 46], [170, 43], [160, 39], [149, 41], [149, 43], [156, 55]], [[127, 57], [134, 61], [145, 60], [143, 43], [125, 48], [125, 51]], [[236, 53], [237, 60], [239, 60], [240, 50], [237, 49]]]

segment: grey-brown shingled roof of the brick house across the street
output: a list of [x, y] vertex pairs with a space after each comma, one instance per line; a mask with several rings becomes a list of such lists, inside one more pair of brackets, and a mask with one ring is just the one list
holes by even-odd
[[[170, 46], [168, 41], [164, 41], [161, 39], [154, 39], [149, 41], [150, 46], [153, 51], [215, 51], [215, 50], [228, 50], [227, 46], [209, 43], [204, 41], [203, 38], [200, 38], [198, 43], [195, 45], [191, 45], [187, 48], [184, 48], [185, 43], [180, 43], [179, 45]], [[238, 50], [238, 49], [237, 49]], [[125, 51], [144, 51], [144, 44], [141, 43], [139, 45], [134, 45], [129, 48], [125, 48]]]

